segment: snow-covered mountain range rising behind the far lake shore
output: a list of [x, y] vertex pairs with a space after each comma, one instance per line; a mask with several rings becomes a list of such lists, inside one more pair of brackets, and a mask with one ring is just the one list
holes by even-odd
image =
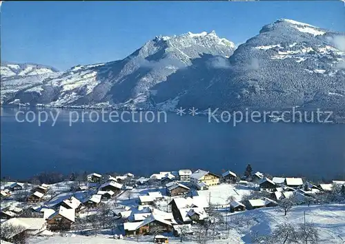
[[344, 109], [344, 43], [345, 33], [288, 19], [264, 26], [238, 48], [215, 32], [155, 37], [126, 59], [52, 72], [30, 79], [30, 87], [16, 88], [23, 77], [8, 83], [1, 66], [1, 102]]

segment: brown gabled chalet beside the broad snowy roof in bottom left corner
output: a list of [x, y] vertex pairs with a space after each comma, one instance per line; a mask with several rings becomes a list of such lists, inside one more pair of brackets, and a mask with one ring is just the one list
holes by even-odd
[[47, 218], [48, 229], [52, 231], [70, 230], [72, 223], [75, 223], [75, 210], [63, 206]]

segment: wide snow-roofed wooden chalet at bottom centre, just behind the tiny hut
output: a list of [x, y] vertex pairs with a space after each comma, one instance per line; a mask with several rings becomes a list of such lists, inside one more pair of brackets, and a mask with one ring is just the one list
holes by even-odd
[[151, 214], [141, 222], [124, 223], [126, 236], [163, 233], [172, 231], [172, 223], [158, 215]]

